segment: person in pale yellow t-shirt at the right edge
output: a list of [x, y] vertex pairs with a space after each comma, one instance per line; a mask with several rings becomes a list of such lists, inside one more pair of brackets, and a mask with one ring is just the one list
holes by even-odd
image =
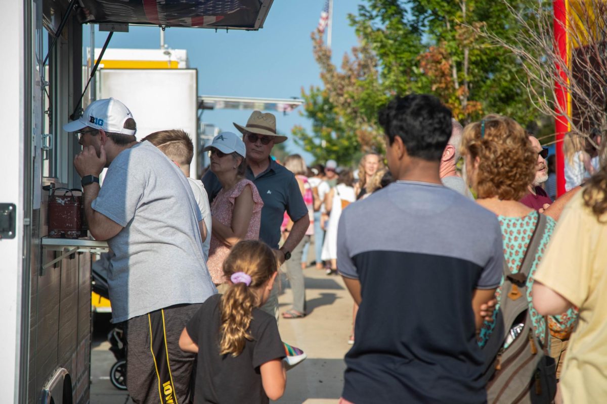
[[566, 403], [600, 403], [607, 397], [607, 165], [586, 182], [558, 220], [535, 274], [538, 313], [578, 306], [580, 321], [569, 341], [561, 389]]

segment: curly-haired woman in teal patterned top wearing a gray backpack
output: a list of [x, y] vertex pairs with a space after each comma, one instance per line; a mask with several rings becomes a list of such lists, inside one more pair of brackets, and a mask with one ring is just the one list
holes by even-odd
[[[526, 131], [514, 119], [496, 114], [487, 115], [480, 122], [467, 125], [464, 128], [461, 148], [466, 162], [467, 180], [478, 197], [476, 202], [498, 216], [504, 243], [504, 258], [509, 270], [516, 274], [521, 269], [527, 253], [526, 248], [540, 220], [537, 211], [518, 202], [527, 192], [527, 185], [535, 178], [537, 152], [534, 151]], [[556, 224], [551, 217], [544, 217], [543, 220], [546, 225], [543, 233], [535, 235], [540, 237], [540, 244], [526, 281], [529, 317], [533, 323], [535, 336], [540, 341], [548, 338], [546, 318], [538, 314], [532, 304], [532, 276]], [[498, 307], [501, 300], [501, 287], [495, 295]], [[497, 310], [493, 316], [495, 317], [496, 314]], [[549, 341], [554, 341], [558, 346], [563, 345], [560, 342], [568, 338], [576, 319], [577, 313], [573, 309], [549, 319], [551, 333]], [[479, 336], [479, 345], [486, 344], [494, 326], [495, 322], [484, 323]], [[557, 363], [561, 356], [564, 357], [562, 354], [564, 349], [552, 355], [556, 356]]]

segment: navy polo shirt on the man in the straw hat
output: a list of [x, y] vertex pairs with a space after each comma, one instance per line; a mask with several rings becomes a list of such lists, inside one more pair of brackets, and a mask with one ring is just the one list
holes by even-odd
[[[257, 177], [254, 176], [251, 168], [247, 167], [246, 178], [254, 182], [263, 199], [259, 239], [272, 248], [278, 248], [280, 225], [285, 211], [294, 222], [308, 214], [299, 184], [291, 171], [272, 159], [270, 166]], [[206, 171], [202, 183], [205, 185], [211, 204], [222, 189], [222, 184], [211, 170]]]

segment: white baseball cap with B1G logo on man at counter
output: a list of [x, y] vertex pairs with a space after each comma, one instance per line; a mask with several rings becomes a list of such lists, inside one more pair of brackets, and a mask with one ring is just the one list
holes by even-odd
[[124, 122], [133, 118], [133, 114], [122, 102], [114, 98], [98, 99], [86, 107], [76, 121], [63, 125], [66, 132], [77, 132], [86, 127], [103, 129], [106, 132], [135, 134], [137, 129], [124, 128]]

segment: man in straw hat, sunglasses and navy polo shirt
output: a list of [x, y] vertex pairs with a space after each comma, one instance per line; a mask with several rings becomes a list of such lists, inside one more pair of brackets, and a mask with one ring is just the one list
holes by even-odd
[[[310, 225], [308, 208], [295, 176], [270, 157], [274, 144], [286, 141], [287, 136], [276, 133], [276, 118], [273, 114], [260, 111], [253, 111], [244, 127], [236, 122], [234, 126], [242, 133], [246, 146], [246, 177], [254, 182], [263, 199], [259, 239], [274, 248], [280, 263], [283, 263], [291, 258], [291, 251], [297, 247]], [[203, 176], [202, 182], [212, 202], [222, 186], [210, 170]], [[285, 211], [294, 223], [287, 240], [279, 249], [280, 224]], [[262, 307], [275, 317], [278, 312], [276, 290], [273, 288], [273, 294]]]

